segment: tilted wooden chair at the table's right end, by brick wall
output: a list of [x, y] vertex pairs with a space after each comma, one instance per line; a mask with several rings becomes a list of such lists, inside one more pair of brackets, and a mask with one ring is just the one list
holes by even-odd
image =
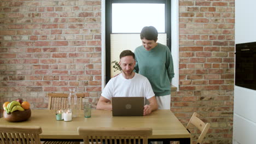
[[195, 125], [195, 127], [201, 131], [201, 134], [198, 137], [196, 143], [202, 143], [203, 138], [205, 137], [207, 131], [210, 128], [210, 123], [204, 123], [197, 116], [198, 116], [198, 114], [196, 112], [194, 112], [192, 117], [190, 118], [189, 123], [186, 128], [188, 129], [191, 124]]

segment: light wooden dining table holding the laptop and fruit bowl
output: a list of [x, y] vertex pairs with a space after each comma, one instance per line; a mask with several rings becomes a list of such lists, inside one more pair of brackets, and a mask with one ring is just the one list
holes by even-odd
[[1, 125], [26, 125], [40, 126], [43, 133], [40, 139], [56, 141], [83, 141], [78, 135], [78, 127], [128, 127], [128, 128], [152, 128], [153, 135], [149, 141], [180, 141], [190, 143], [190, 133], [178, 118], [170, 110], [156, 110], [148, 116], [116, 117], [112, 111], [92, 110], [91, 117], [85, 118], [83, 110], [78, 111], [78, 116], [72, 121], [56, 121], [55, 110], [32, 110], [32, 115], [27, 121], [8, 122], [0, 118]]

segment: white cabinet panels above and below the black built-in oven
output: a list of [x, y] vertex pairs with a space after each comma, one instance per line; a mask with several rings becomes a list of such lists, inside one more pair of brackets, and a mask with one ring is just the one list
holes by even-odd
[[[235, 43], [256, 41], [255, 0], [235, 1]], [[256, 143], [256, 91], [235, 86], [233, 144]]]

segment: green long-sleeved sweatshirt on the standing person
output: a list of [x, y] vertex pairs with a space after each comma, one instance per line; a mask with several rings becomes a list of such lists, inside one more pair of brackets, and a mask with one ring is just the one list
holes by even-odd
[[155, 96], [171, 94], [173, 61], [171, 51], [166, 45], [158, 43], [150, 51], [146, 51], [141, 45], [135, 49], [135, 59], [135, 72], [148, 78]]

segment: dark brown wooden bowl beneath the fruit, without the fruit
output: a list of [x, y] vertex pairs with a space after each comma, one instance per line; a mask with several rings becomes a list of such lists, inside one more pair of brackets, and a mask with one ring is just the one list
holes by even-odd
[[8, 115], [6, 111], [3, 112], [3, 118], [8, 122], [20, 122], [27, 121], [28, 118], [31, 117], [31, 110], [25, 111], [14, 111]]

